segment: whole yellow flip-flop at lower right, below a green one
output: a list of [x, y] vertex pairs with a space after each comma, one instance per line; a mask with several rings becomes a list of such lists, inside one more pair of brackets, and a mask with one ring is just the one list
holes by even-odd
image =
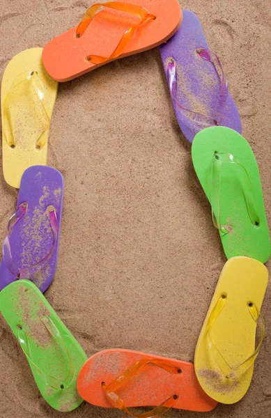
[[[220, 403], [235, 403], [251, 382], [264, 336], [261, 304], [268, 270], [260, 261], [233, 257], [224, 265], [196, 345], [194, 366], [201, 387]], [[256, 327], [261, 338], [255, 349]]]

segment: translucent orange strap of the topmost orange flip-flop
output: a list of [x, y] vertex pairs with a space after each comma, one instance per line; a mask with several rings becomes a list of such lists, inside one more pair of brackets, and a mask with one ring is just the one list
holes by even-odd
[[86, 59], [88, 61], [91, 61], [93, 64], [104, 63], [109, 59], [116, 58], [117, 56], [121, 55], [121, 52], [123, 52], [123, 49], [125, 49], [127, 44], [130, 42], [137, 28], [148, 19], [156, 19], [155, 15], [150, 15], [146, 8], [136, 6], [135, 4], [122, 3], [121, 1], [107, 1], [107, 3], [95, 3], [93, 4], [93, 6], [88, 8], [88, 10], [86, 10], [86, 13], [84, 14], [81, 22], [79, 23], [76, 31], [77, 38], [80, 38], [84, 34], [84, 31], [86, 31], [88, 25], [91, 23], [93, 17], [96, 15], [96, 13], [101, 7], [107, 7], [115, 10], [121, 10], [122, 12], [131, 13], [132, 15], [138, 16], [140, 20], [139, 23], [134, 24], [129, 29], [127, 29], [127, 31], [125, 31], [125, 33], [121, 37], [120, 42], [118, 42], [116, 49], [114, 49], [114, 52], [112, 52], [110, 56], [86, 56]]

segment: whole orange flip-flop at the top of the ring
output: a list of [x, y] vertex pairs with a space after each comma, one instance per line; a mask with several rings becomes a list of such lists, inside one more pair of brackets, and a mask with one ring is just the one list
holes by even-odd
[[[136, 3], [136, 4], [135, 4]], [[104, 10], [100, 10], [104, 7]], [[178, 0], [125, 0], [93, 4], [81, 22], [42, 52], [47, 72], [59, 82], [169, 39], [180, 27]]]

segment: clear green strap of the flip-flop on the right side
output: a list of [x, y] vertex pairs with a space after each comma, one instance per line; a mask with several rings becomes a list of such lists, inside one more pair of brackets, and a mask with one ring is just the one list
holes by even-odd
[[[212, 206], [212, 222], [219, 231], [226, 234], [229, 231], [226, 226], [221, 224], [221, 185], [222, 185], [222, 169], [225, 165], [235, 164], [240, 169], [239, 183], [245, 198], [247, 212], [252, 225], [260, 226], [260, 215], [256, 204], [249, 173], [243, 164], [241, 164], [233, 154], [214, 153], [212, 156], [211, 166], [211, 194], [210, 202]], [[233, 186], [234, 187], [234, 186]]]

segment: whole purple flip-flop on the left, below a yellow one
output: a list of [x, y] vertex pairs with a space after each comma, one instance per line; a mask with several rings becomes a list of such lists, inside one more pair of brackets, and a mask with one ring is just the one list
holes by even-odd
[[45, 292], [54, 278], [59, 254], [63, 177], [46, 166], [24, 171], [17, 209], [3, 241], [0, 289], [30, 279]]

